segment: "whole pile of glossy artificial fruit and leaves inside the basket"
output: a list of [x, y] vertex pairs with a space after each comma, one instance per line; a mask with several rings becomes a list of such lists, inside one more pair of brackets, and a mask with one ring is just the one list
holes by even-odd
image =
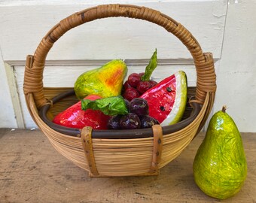
[[184, 71], [157, 83], [151, 74], [157, 68], [157, 50], [145, 72], [126, 78], [127, 66], [120, 59], [86, 71], [75, 81], [81, 101], [54, 117], [53, 123], [82, 129], [141, 129], [178, 123], [187, 103]]

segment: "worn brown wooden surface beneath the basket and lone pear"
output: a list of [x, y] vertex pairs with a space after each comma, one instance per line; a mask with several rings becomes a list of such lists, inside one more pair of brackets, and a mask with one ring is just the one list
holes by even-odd
[[[88, 177], [38, 130], [0, 129], [0, 202], [218, 202], [194, 183], [201, 133], [154, 177]], [[256, 134], [243, 133], [248, 177], [223, 202], [256, 202]]]

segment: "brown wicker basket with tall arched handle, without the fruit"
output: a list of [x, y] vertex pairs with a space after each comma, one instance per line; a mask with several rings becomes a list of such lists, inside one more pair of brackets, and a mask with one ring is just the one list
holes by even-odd
[[[51, 123], [54, 115], [77, 102], [72, 88], [45, 88], [42, 78], [47, 53], [64, 33], [106, 17], [130, 17], [156, 23], [175, 35], [190, 51], [197, 71], [197, 86], [188, 87], [193, 99], [187, 117], [172, 126], [138, 130], [69, 129]], [[203, 53], [197, 40], [172, 18], [135, 5], [99, 5], [72, 14], [44, 36], [34, 56], [27, 56], [24, 93], [29, 112], [53, 147], [91, 176], [158, 174], [178, 156], [206, 122], [215, 98], [216, 77], [211, 53]]]

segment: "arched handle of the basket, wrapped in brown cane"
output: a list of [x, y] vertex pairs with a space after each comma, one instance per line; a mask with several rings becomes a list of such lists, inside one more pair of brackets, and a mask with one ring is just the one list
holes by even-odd
[[35, 50], [34, 56], [27, 56], [23, 89], [25, 95], [28, 93], [33, 94], [35, 105], [38, 108], [47, 104], [47, 99], [44, 97], [42, 80], [45, 60], [50, 48], [69, 29], [106, 17], [130, 17], [148, 20], [151, 23], [162, 26], [167, 32], [171, 32], [187, 47], [187, 50], [193, 56], [197, 69], [196, 101], [203, 103], [206, 98], [206, 92], [215, 92], [216, 77], [212, 53], [203, 53], [200, 44], [184, 26], [151, 8], [135, 5], [99, 5], [72, 14], [61, 20], [42, 38]]

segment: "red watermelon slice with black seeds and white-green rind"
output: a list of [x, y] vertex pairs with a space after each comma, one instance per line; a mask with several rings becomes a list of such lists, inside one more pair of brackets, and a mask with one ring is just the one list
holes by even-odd
[[178, 71], [140, 96], [148, 101], [148, 111], [161, 126], [178, 123], [187, 103], [187, 76]]

